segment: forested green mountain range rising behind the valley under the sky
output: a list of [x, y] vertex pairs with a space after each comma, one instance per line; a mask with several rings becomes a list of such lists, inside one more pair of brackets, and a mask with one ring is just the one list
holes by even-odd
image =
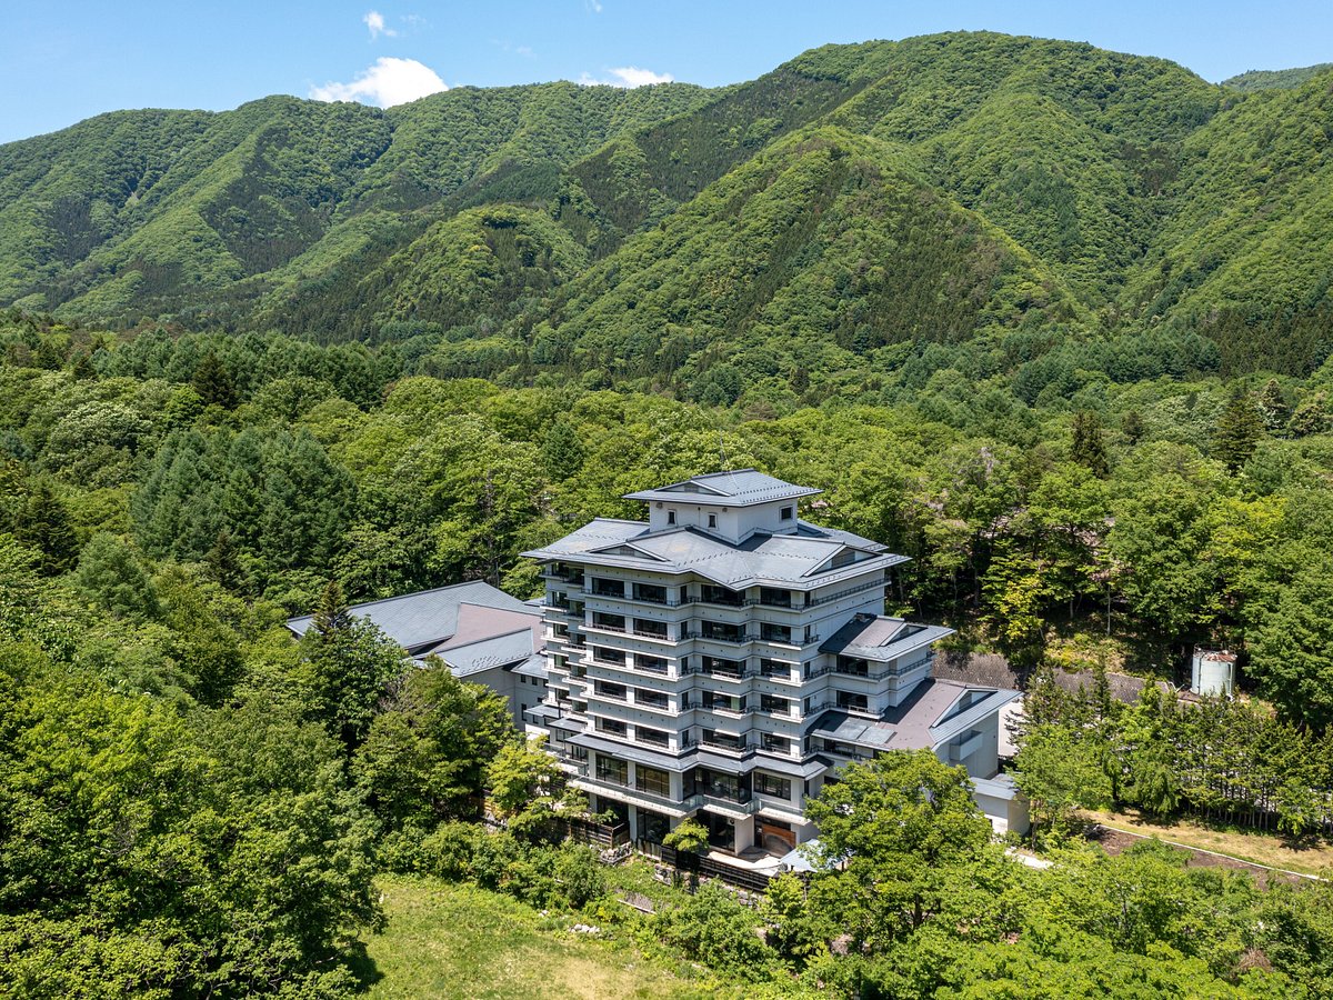
[[1304, 373], [1333, 347], [1318, 71], [1213, 85], [953, 33], [716, 91], [120, 112], [0, 147], [0, 303], [419, 340], [436, 371], [698, 399], [1117, 337]]

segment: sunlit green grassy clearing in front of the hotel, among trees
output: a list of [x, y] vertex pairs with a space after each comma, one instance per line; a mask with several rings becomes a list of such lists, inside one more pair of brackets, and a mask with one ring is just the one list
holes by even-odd
[[391, 876], [380, 888], [389, 925], [367, 941], [372, 1000], [705, 996], [636, 951], [573, 935], [572, 920], [500, 893]]

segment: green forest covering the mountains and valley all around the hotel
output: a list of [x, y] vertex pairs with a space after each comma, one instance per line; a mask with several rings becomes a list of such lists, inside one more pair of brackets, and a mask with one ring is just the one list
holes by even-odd
[[[1077, 836], [1333, 833], [1330, 101], [981, 33], [0, 147], [0, 996], [356, 993], [383, 872], [704, 995], [1333, 995], [1328, 883]], [[520, 552], [718, 464], [821, 488], [910, 557], [892, 612], [1030, 677], [1050, 868], [888, 755], [814, 807], [848, 864], [629, 911], [504, 704], [347, 613], [529, 597]], [[1194, 644], [1241, 699], [1109, 696]]]

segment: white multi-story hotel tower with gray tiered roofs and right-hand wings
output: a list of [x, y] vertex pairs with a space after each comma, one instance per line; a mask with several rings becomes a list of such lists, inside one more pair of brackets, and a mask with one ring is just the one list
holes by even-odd
[[724, 851], [785, 853], [838, 765], [932, 748], [966, 767], [998, 828], [1016, 691], [932, 677], [949, 635], [884, 615], [884, 545], [801, 520], [817, 489], [753, 469], [629, 493], [648, 520], [597, 519], [527, 555], [547, 580], [545, 701], [527, 713], [593, 808], [660, 841], [686, 816]]

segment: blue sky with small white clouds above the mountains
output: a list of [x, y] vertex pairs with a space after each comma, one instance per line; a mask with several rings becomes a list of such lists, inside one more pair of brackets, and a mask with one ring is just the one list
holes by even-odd
[[440, 87], [749, 80], [829, 41], [989, 29], [1164, 56], [1208, 80], [1333, 61], [1321, 3], [13, 0], [0, 141], [119, 108], [269, 93], [388, 104]]

